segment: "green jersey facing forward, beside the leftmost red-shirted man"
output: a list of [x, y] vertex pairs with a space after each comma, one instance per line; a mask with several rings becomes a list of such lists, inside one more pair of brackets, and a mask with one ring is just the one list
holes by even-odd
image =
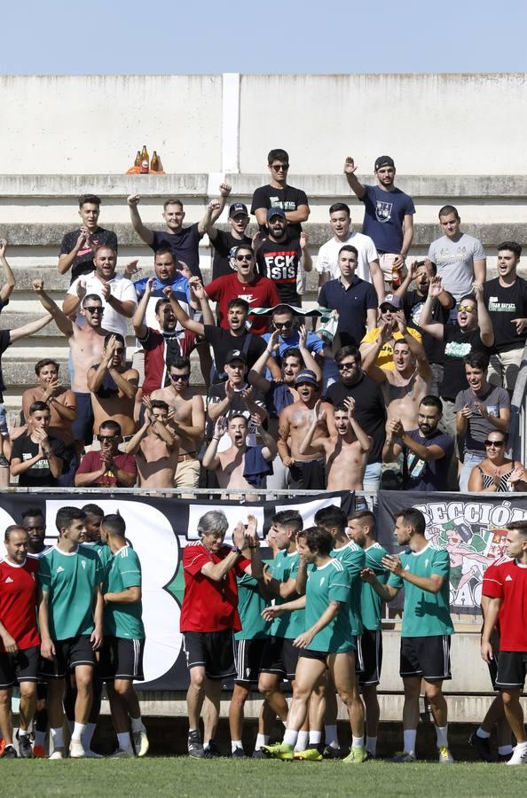
[[48, 594], [51, 639], [90, 635], [95, 628], [93, 594], [103, 581], [98, 553], [84, 545], [71, 553], [53, 546], [39, 559], [38, 565], [38, 581]]

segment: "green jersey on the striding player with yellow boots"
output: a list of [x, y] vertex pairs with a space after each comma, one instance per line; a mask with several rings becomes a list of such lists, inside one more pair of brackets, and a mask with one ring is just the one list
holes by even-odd
[[308, 649], [342, 653], [355, 648], [351, 639], [350, 591], [350, 572], [339, 559], [330, 559], [326, 565], [309, 572], [305, 591], [306, 629], [319, 621], [332, 601], [338, 601], [341, 606], [333, 621], [317, 632]]

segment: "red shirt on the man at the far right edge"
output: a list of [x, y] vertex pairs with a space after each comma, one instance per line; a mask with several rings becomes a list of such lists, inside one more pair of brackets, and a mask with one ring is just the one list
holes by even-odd
[[489, 566], [483, 594], [502, 599], [499, 607], [499, 650], [527, 652], [527, 565], [509, 559]]

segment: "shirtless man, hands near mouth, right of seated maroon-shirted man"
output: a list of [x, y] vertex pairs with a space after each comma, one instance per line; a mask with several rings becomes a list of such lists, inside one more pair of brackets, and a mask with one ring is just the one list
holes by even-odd
[[145, 423], [128, 442], [125, 451], [136, 456], [139, 488], [173, 488], [179, 438], [168, 426], [169, 405], [148, 396], [144, 402]]

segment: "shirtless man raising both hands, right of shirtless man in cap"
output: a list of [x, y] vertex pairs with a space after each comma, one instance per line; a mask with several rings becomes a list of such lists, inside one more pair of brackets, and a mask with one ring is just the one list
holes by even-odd
[[368, 454], [372, 448], [372, 438], [358, 425], [355, 418], [355, 400], [344, 399], [334, 409], [336, 437], [319, 435], [317, 428], [323, 424], [326, 411], [320, 409], [320, 401], [315, 405], [315, 417], [311, 421], [298, 451], [303, 454], [310, 446], [323, 449], [326, 453], [326, 489], [362, 490]]

